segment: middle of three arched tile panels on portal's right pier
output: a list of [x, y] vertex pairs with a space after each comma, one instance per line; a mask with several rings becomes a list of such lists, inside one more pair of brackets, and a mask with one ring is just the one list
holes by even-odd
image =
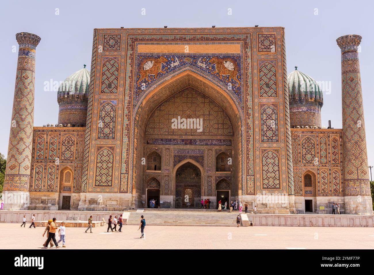
[[261, 142], [278, 142], [278, 112], [266, 105], [261, 110]]

